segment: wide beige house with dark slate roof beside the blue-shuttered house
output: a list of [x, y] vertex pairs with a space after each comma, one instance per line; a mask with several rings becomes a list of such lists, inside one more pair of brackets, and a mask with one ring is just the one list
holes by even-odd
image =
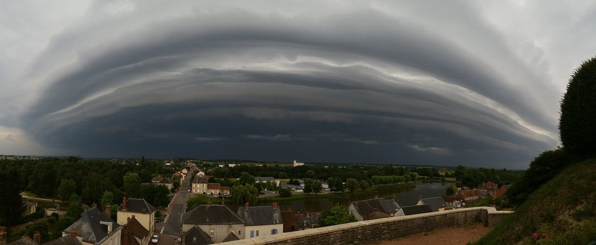
[[200, 228], [213, 243], [221, 243], [229, 233], [244, 239], [244, 221], [225, 205], [200, 205], [182, 216], [182, 232]]

